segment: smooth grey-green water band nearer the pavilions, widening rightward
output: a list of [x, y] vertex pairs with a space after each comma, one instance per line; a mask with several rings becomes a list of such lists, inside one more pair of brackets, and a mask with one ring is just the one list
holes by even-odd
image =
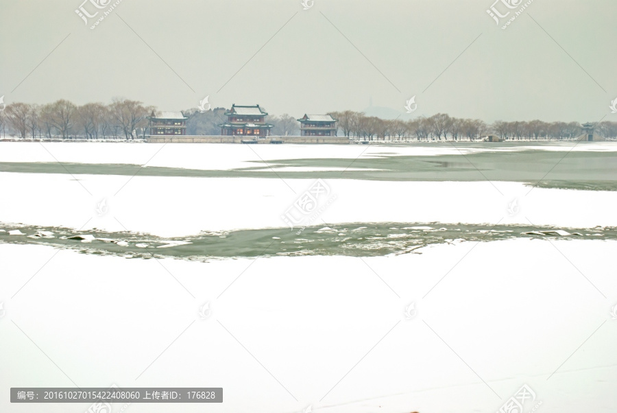
[[[324, 156], [327, 154], [324, 154]], [[229, 170], [142, 167], [130, 164], [0, 162], [0, 172], [38, 174], [191, 176], [212, 178], [305, 178], [387, 181], [513, 181], [546, 188], [617, 191], [617, 152], [521, 150], [435, 156], [379, 154], [357, 159], [299, 158], [254, 161]], [[328, 168], [290, 172], [278, 168]]]

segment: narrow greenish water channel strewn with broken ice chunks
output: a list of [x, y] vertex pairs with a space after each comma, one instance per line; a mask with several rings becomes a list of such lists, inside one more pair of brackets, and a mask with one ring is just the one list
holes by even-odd
[[[11, 233], [16, 235], [11, 235]], [[149, 259], [173, 257], [208, 261], [240, 257], [343, 255], [377, 257], [421, 253], [435, 244], [534, 239], [617, 239], [617, 228], [550, 226], [367, 223], [301, 228], [202, 232], [178, 238], [130, 232], [79, 232], [71, 228], [0, 223], [0, 243], [69, 248], [84, 254]]]

